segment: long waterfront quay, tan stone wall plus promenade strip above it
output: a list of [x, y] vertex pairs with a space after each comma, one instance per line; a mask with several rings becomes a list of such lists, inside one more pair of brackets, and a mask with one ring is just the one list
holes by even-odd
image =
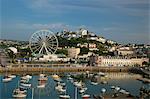
[[129, 72], [131, 67], [100, 67], [74, 66], [70, 64], [10, 64], [7, 68], [0, 67], [0, 73], [5, 72]]

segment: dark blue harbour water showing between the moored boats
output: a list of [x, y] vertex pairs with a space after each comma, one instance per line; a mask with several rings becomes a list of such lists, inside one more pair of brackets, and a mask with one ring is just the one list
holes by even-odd
[[[27, 91], [26, 99], [32, 99], [32, 89], [34, 88], [33, 99], [59, 99], [59, 92], [55, 90], [56, 82], [52, 79], [50, 74], [48, 75], [48, 81], [46, 87], [43, 89], [38, 89], [38, 75], [33, 75], [30, 83], [32, 87]], [[66, 74], [64, 74], [66, 75]], [[13, 90], [18, 87], [18, 82], [20, 81], [20, 75], [17, 75], [12, 81], [4, 83], [2, 82], [3, 74], [0, 75], [0, 99], [14, 99], [12, 97]], [[70, 99], [75, 99], [76, 87], [72, 84], [66, 76], [61, 77], [62, 81], [66, 84], [66, 94], [70, 95]], [[119, 86], [127, 91], [129, 91], [134, 96], [139, 96], [140, 88], [142, 86], [149, 87], [148, 84], [144, 84], [133, 78], [126, 79], [110, 79], [107, 84], [99, 83], [98, 85], [92, 85], [89, 79], [85, 79], [85, 85], [88, 88], [85, 92], [91, 96], [100, 95], [101, 89], [105, 88], [106, 93], [111, 93], [111, 86]], [[105, 93], [105, 94], [106, 94]], [[77, 90], [77, 99], [82, 99], [79, 90]]]

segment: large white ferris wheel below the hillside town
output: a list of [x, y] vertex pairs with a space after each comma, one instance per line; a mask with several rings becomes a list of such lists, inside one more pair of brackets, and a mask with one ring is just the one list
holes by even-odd
[[29, 47], [34, 55], [54, 54], [58, 48], [58, 39], [49, 30], [40, 30], [32, 34]]

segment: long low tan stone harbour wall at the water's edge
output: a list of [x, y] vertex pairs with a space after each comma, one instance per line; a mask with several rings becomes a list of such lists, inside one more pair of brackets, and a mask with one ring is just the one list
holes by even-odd
[[72, 66], [59, 66], [59, 67], [0, 67], [0, 73], [5, 72], [129, 72], [129, 67], [72, 67]]

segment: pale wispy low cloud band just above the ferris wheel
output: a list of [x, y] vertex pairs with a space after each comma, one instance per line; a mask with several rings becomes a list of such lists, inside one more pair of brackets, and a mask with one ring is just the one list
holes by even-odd
[[42, 23], [27, 23], [27, 22], [21, 22], [21, 23], [9, 23], [5, 24], [2, 30], [5, 29], [13, 29], [13, 30], [22, 30], [22, 31], [29, 31], [29, 30], [40, 30], [40, 29], [50, 29], [54, 30], [56, 32], [62, 31], [63, 29], [68, 29], [71, 31], [76, 31], [79, 28], [85, 28], [87, 29], [87, 26], [85, 25], [70, 25], [70, 24], [65, 24], [65, 23], [47, 23], [47, 24], [42, 24]]

